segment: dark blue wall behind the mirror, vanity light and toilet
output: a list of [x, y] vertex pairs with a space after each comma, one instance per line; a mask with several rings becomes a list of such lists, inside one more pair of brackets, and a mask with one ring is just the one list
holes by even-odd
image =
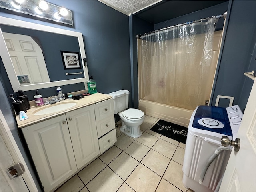
[[[72, 10], [74, 26], [55, 24], [50, 20], [49, 22], [35, 20], [26, 15], [13, 15], [4, 9], [1, 9], [1, 16], [81, 32], [88, 72], [96, 80], [98, 92], [109, 93], [120, 89], [131, 92], [128, 16], [96, 0], [72, 0], [72, 4], [66, 0], [48, 2]], [[8, 80], [2, 79], [2, 76], [5, 76], [2, 75], [2, 68], [1, 64], [1, 80], [6, 87], [10, 87]], [[83, 83], [62, 86], [64, 93], [78, 90], [84, 90]], [[6, 92], [13, 94], [11, 88]], [[34, 91], [24, 92], [29, 100], [33, 100], [34, 93]], [[44, 97], [56, 95], [56, 87], [39, 90], [39, 93]]]

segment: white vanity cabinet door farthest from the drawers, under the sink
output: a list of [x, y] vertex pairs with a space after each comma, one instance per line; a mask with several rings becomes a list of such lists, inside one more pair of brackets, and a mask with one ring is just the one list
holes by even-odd
[[50, 191], [76, 172], [66, 116], [22, 128], [44, 191]]

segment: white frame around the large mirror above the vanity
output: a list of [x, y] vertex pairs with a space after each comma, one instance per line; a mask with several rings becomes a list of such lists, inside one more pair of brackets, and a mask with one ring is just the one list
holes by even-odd
[[78, 44], [80, 47], [80, 54], [81, 54], [80, 56], [81, 56], [81, 62], [82, 62], [81, 65], [83, 65], [82, 72], [84, 73], [84, 78], [60, 80], [60, 81], [30, 84], [30, 85], [20, 85], [17, 74], [12, 64], [10, 54], [8, 52], [8, 49], [4, 41], [2, 30], [0, 29], [0, 42], [1, 42], [0, 55], [4, 63], [6, 72], [8, 74], [9, 80], [12, 84], [12, 89], [14, 92], [18, 92], [18, 90], [29, 91], [29, 90], [36, 90], [36, 89], [42, 89], [42, 88], [57, 87], [57, 86], [81, 83], [81, 82], [84, 82], [85, 89], [87, 89], [86, 82], [89, 80], [89, 75], [88, 75], [88, 69], [84, 66], [84, 62], [83, 62], [83, 58], [86, 58], [86, 55], [85, 55], [82, 33], [65, 30], [61, 28], [55, 28], [51, 26], [45, 26], [45, 25], [36, 24], [36, 23], [31, 23], [31, 22], [26, 22], [26, 21], [21, 21], [21, 20], [16, 20], [12, 18], [1, 17], [1, 16], [0, 16], [0, 24], [33, 29], [33, 30], [40, 30], [40, 31], [51, 32], [56, 34], [63, 34], [68, 36], [74, 36], [78, 38]]

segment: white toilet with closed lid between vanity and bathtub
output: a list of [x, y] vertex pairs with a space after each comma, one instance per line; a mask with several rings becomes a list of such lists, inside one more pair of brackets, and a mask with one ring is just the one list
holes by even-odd
[[122, 121], [120, 131], [124, 134], [137, 138], [142, 135], [140, 125], [144, 122], [144, 112], [138, 109], [127, 109], [129, 102], [129, 91], [119, 90], [109, 93], [114, 99], [114, 111]]

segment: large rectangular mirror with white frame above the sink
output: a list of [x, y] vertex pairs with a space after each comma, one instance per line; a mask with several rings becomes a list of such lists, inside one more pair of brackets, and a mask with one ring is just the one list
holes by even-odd
[[[14, 92], [89, 80], [82, 33], [5, 17], [0, 17], [0, 24], [0, 54]], [[20, 49], [29, 54], [19, 53], [22, 60], [8, 51], [15, 50], [12, 40], [16, 38]], [[40, 54], [31, 55], [36, 48]]]

